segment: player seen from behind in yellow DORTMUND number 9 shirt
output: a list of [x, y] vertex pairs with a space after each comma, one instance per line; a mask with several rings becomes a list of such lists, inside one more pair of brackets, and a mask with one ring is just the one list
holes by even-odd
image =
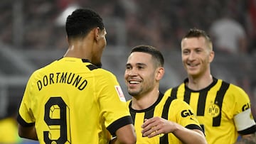
[[33, 72], [18, 113], [18, 134], [40, 143], [136, 143], [132, 117], [116, 77], [103, 70], [102, 18], [90, 9], [68, 16], [69, 48]]

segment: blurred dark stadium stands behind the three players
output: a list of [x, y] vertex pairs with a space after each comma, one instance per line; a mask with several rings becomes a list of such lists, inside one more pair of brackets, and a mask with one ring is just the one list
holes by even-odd
[[[88, 7], [99, 12], [107, 28], [103, 67], [117, 75], [124, 95], [123, 74], [129, 50], [146, 44], [164, 53], [166, 74], [161, 91], [183, 82], [180, 40], [189, 28], [208, 32], [211, 23], [229, 10], [245, 28], [247, 52], [217, 52], [213, 76], [245, 89], [256, 113], [255, 0], [1, 0], [0, 3], [0, 118], [9, 103], [19, 104], [29, 75], [62, 57], [66, 11]], [[214, 44], [213, 44], [214, 45]]]

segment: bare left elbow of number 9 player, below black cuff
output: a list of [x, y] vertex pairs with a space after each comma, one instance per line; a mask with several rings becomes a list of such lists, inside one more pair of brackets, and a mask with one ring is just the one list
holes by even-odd
[[31, 140], [38, 140], [35, 126], [23, 127], [18, 124], [18, 135], [21, 138], [28, 138]]

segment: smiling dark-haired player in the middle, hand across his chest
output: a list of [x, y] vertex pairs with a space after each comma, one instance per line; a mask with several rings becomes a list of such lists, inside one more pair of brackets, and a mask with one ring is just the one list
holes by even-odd
[[206, 138], [186, 102], [159, 92], [164, 57], [149, 45], [132, 49], [124, 73], [132, 100], [127, 101], [137, 132], [137, 143], [206, 143]]

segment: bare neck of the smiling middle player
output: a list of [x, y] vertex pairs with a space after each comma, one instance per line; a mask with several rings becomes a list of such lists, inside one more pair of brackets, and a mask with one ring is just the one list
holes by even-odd
[[132, 96], [132, 109], [142, 110], [152, 106], [159, 98], [159, 90], [154, 90], [139, 96]]

